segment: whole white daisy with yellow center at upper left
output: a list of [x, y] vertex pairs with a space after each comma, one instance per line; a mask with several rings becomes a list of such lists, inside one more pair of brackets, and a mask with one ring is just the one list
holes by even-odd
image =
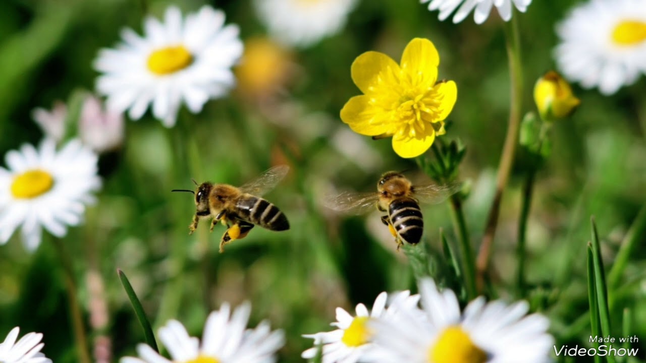
[[182, 101], [198, 113], [233, 87], [231, 67], [242, 55], [242, 41], [238, 26], [224, 26], [224, 12], [202, 6], [182, 19], [171, 6], [164, 23], [148, 17], [143, 25], [145, 36], [123, 30], [123, 43], [101, 50], [94, 62], [103, 73], [97, 88], [111, 109], [139, 119], [152, 104], [154, 117], [172, 127]]

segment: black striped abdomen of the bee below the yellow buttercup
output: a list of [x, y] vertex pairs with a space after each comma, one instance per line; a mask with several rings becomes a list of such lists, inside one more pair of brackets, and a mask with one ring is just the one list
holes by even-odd
[[419, 204], [413, 198], [393, 200], [388, 206], [388, 216], [399, 237], [409, 244], [417, 244], [422, 239], [424, 220]]

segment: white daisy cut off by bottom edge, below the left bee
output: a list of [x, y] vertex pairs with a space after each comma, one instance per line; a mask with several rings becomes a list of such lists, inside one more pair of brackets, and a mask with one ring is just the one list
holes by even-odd
[[281, 330], [271, 331], [261, 322], [255, 329], [246, 329], [251, 306], [243, 304], [233, 311], [222, 304], [206, 320], [202, 344], [190, 337], [177, 320], [171, 320], [159, 329], [158, 336], [169, 351], [172, 360], [161, 357], [146, 344], [137, 346], [141, 358], [121, 358], [121, 363], [272, 363], [275, 353], [284, 344]]

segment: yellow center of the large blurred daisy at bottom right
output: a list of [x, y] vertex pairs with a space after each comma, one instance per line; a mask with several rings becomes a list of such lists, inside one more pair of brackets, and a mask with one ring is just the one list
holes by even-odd
[[443, 331], [428, 358], [433, 363], [485, 363], [487, 355], [460, 327], [452, 326]]

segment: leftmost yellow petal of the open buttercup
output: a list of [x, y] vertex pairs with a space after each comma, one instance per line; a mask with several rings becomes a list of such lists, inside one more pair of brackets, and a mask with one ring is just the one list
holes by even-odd
[[341, 120], [354, 132], [377, 136], [388, 132], [388, 113], [370, 105], [370, 96], [354, 96], [341, 109]]

